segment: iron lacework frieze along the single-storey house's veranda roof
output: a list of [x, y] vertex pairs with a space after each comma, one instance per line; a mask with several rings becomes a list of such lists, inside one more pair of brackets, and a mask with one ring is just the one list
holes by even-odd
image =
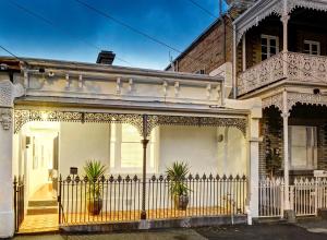
[[144, 115], [107, 113], [107, 112], [76, 112], [76, 111], [43, 111], [14, 110], [14, 132], [17, 133], [26, 122], [31, 121], [63, 121], [63, 122], [118, 122], [134, 125], [142, 136], [149, 136], [158, 125], [196, 125], [196, 127], [230, 127], [246, 134], [245, 118], [214, 118], [186, 116], [148, 115], [144, 128]]

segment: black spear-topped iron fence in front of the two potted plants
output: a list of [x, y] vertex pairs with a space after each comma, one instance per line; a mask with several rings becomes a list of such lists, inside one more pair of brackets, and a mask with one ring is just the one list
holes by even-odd
[[186, 208], [181, 208], [166, 176], [146, 179], [145, 195], [138, 176], [110, 176], [90, 180], [68, 176], [59, 179], [59, 223], [133, 221], [141, 219], [142, 197], [148, 219], [244, 214], [245, 176], [219, 177], [190, 175], [182, 180], [187, 187]]

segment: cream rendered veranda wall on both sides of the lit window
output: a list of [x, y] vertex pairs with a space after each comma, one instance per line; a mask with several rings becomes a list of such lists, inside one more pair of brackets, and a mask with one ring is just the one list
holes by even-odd
[[[78, 173], [84, 173], [87, 159], [109, 166], [109, 128], [106, 123], [60, 123], [60, 173], [66, 176], [70, 167], [78, 167]], [[225, 129], [160, 127], [158, 173], [165, 173], [166, 167], [175, 160], [187, 161], [194, 173], [246, 173], [245, 139], [240, 130], [229, 128], [228, 137], [223, 135], [222, 142], [218, 142], [218, 134], [225, 133]]]

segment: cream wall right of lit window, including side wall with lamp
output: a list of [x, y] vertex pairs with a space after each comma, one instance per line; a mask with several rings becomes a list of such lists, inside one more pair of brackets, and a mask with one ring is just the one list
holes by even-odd
[[201, 175], [246, 173], [245, 149], [245, 139], [234, 128], [161, 127], [159, 172], [175, 160], [184, 160], [192, 172]]

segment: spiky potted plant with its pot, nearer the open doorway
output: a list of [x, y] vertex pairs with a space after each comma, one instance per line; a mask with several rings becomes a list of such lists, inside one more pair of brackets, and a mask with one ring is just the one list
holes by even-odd
[[87, 188], [87, 211], [92, 215], [99, 215], [102, 209], [102, 184], [99, 180], [106, 170], [106, 165], [102, 165], [99, 160], [88, 160], [84, 166], [85, 175], [89, 181]]

